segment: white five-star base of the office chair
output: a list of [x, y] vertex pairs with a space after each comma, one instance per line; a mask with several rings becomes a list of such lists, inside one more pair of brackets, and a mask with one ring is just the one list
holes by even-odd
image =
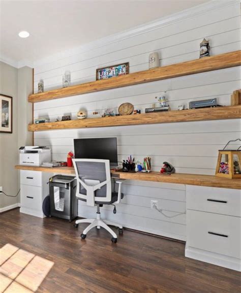
[[115, 222], [112, 222], [112, 221], [109, 221], [109, 220], [102, 220], [100, 213], [97, 213], [96, 219], [81, 219], [81, 220], [76, 220], [75, 221], [76, 225], [79, 224], [79, 223], [90, 223], [84, 229], [82, 235], [86, 235], [89, 232], [89, 230], [91, 230], [94, 227], [97, 227], [97, 229], [100, 229], [102, 227], [106, 231], [108, 231], [112, 235], [113, 238], [117, 239], [117, 235], [114, 233], [114, 231], [108, 225], [117, 226], [117, 227], [119, 227], [119, 229], [123, 229], [123, 226], [118, 224], [118, 223], [115, 223]]

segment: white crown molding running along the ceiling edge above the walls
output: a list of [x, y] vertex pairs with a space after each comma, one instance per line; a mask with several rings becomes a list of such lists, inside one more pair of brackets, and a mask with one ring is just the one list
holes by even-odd
[[[21, 68], [24, 66], [36, 68], [46, 63], [57, 61], [57, 60], [74, 56], [77, 54], [81, 54], [86, 51], [98, 49], [100, 47], [107, 46], [108, 44], [113, 44], [115, 42], [119, 42], [128, 38], [145, 34], [148, 31], [156, 30], [161, 27], [164, 27], [179, 21], [184, 21], [184, 20], [196, 17], [198, 15], [205, 14], [206, 12], [209, 12], [210, 10], [219, 10], [219, 9], [223, 9], [231, 5], [240, 4], [240, 3], [241, 3], [241, 0], [212, 0], [210, 2], [162, 17], [160, 19], [136, 26], [134, 28], [119, 32], [117, 34], [90, 42], [88, 44], [74, 47], [72, 49], [68, 49], [65, 51], [60, 51], [56, 54], [41, 58], [39, 60], [31, 61], [28, 59], [22, 59], [20, 61], [14, 61], [8, 58], [1, 58], [1, 60], [3, 59], [3, 62], [8, 63], [16, 68]], [[8, 62], [8, 60], [10, 61], [10, 63]]]

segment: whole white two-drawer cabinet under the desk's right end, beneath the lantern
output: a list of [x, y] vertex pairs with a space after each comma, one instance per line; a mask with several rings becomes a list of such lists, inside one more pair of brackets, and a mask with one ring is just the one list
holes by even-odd
[[187, 185], [185, 255], [241, 271], [241, 194], [237, 189]]

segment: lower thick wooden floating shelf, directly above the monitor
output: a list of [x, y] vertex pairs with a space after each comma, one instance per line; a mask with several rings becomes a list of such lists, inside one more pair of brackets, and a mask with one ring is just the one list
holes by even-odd
[[28, 131], [241, 118], [241, 105], [29, 124]]

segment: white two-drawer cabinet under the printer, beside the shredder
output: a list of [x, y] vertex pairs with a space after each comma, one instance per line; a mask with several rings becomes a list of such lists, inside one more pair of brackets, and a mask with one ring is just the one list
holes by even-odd
[[52, 173], [20, 171], [20, 212], [36, 217], [45, 217], [42, 205], [49, 194], [49, 178]]

